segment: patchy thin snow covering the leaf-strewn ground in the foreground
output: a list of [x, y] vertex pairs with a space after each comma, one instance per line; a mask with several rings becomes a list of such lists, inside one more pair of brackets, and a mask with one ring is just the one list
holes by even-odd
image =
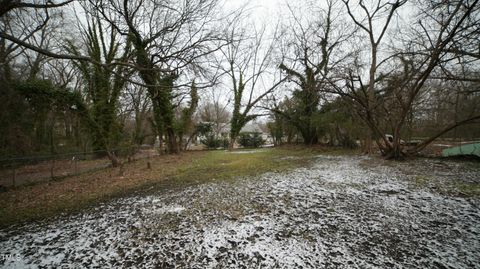
[[458, 180], [479, 183], [480, 171], [319, 156], [288, 173], [118, 199], [0, 231], [0, 266], [479, 267], [480, 199], [430, 184]]

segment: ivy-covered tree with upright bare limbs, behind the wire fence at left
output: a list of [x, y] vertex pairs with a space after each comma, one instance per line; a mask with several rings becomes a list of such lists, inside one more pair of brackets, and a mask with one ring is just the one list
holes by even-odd
[[[87, 53], [97, 62], [105, 65], [91, 64], [85, 61], [75, 62], [80, 70], [87, 86], [85, 107], [88, 110], [82, 115], [89, 118], [89, 132], [92, 137], [93, 150], [97, 155], [107, 156], [113, 166], [120, 165], [120, 161], [114, 153], [120, 139], [121, 128], [117, 121], [117, 107], [122, 89], [128, 76], [122, 66], [108, 67], [118, 58], [120, 42], [112, 29], [109, 36], [108, 46], [105, 44], [106, 37], [100, 21], [92, 20], [85, 32]], [[124, 47], [120, 58], [125, 60], [130, 52], [130, 42]], [[72, 53], [81, 53], [74, 44], [70, 44]]]

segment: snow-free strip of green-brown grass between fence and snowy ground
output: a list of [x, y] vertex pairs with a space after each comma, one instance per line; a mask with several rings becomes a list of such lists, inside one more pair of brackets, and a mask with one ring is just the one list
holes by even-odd
[[[185, 152], [0, 193], [0, 227], [78, 212], [115, 197], [234, 180], [306, 165], [322, 149], [301, 147]], [[333, 151], [335, 153], [336, 151]], [[329, 153], [332, 153], [329, 150]], [[341, 153], [341, 152], [340, 152]], [[286, 158], [288, 156], [288, 158]], [[147, 168], [151, 163], [151, 169]]]

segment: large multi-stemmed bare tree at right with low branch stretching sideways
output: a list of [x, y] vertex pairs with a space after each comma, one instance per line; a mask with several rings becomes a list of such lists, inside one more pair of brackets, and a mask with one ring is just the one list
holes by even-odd
[[[362, 61], [362, 54], [359, 54], [359, 59], [354, 61], [366, 63], [363, 66], [345, 68], [346, 72], [341, 74], [344, 77], [341, 86], [331, 83], [336, 93], [350, 98], [355, 104], [357, 113], [371, 130], [372, 138], [389, 158], [416, 153], [442, 134], [480, 118], [473, 115], [458, 120], [414, 147], [405, 150], [402, 146], [401, 135], [408, 118], [421, 94], [429, 90], [426, 83], [445, 66], [451, 67], [458, 57], [472, 57], [471, 47], [467, 46], [463, 51], [458, 49], [458, 44], [467, 39], [478, 41], [479, 38], [478, 1], [419, 1], [419, 8], [411, 12], [414, 18], [402, 16], [409, 25], [392, 29], [392, 22], [405, 3], [400, 0], [378, 1], [376, 4], [360, 1], [358, 5], [352, 5], [344, 1], [350, 20], [366, 37], [369, 53], [364, 54], [368, 55], [366, 60]], [[401, 22], [397, 21], [397, 24]], [[387, 36], [391, 41], [388, 46], [384, 42]], [[392, 142], [385, 136], [390, 131]]]

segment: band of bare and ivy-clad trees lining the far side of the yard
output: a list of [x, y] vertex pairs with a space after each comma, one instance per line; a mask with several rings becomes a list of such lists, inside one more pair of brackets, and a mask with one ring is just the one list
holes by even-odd
[[478, 2], [300, 1], [258, 23], [220, 0], [0, 0], [0, 155], [118, 166], [157, 137], [162, 153], [233, 148], [254, 120], [274, 144], [394, 159], [475, 140]]

